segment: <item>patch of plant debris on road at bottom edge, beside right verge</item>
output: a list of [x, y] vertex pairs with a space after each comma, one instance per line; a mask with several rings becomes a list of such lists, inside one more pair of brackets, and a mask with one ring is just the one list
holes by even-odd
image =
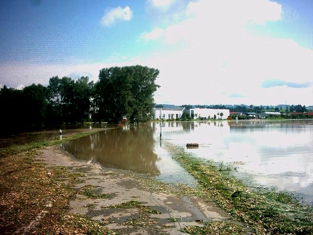
[[180, 230], [183, 233], [192, 235], [234, 235], [234, 234], [246, 234], [243, 227], [226, 222], [209, 222], [204, 227], [199, 226], [187, 226]]

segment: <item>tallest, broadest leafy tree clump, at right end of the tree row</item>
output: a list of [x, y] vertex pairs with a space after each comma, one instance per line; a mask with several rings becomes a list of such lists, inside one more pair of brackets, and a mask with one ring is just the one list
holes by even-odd
[[159, 71], [143, 66], [102, 69], [95, 84], [94, 116], [99, 120], [118, 122], [147, 121], [154, 105], [153, 94]]

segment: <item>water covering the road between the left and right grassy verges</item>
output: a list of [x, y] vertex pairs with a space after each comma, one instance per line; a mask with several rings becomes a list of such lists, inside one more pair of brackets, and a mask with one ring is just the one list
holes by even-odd
[[124, 126], [63, 143], [63, 149], [79, 160], [92, 160], [104, 167], [147, 173], [168, 183], [196, 182], [160, 146], [150, 125]]

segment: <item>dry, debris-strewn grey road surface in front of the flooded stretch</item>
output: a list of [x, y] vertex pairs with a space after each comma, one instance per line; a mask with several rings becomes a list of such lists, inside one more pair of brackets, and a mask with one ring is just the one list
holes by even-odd
[[148, 176], [102, 168], [90, 161], [74, 161], [55, 146], [44, 149], [38, 158], [47, 166], [65, 166], [72, 173], [79, 172], [74, 185], [79, 192], [89, 189], [95, 195], [106, 195], [108, 198], [97, 198], [79, 193], [69, 202], [69, 212], [104, 222], [118, 234], [175, 235], [183, 234], [179, 230], [185, 226], [203, 226], [205, 221], [233, 223], [227, 219], [227, 213], [200, 197], [179, 195], [147, 184]]

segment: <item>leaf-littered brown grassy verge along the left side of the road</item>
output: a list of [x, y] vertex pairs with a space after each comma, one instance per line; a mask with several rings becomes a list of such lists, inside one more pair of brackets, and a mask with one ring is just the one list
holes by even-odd
[[76, 133], [62, 141], [37, 141], [0, 149], [2, 233], [115, 234], [101, 222], [68, 213], [69, 200], [79, 193], [72, 186], [80, 173], [72, 173], [67, 167], [46, 167], [36, 158], [43, 147], [94, 132]]

